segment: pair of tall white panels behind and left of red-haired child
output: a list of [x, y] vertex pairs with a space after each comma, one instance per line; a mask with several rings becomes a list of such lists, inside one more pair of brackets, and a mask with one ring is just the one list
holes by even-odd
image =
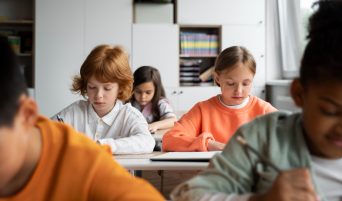
[[52, 116], [79, 99], [72, 77], [102, 43], [131, 51], [131, 0], [36, 0], [35, 98]]

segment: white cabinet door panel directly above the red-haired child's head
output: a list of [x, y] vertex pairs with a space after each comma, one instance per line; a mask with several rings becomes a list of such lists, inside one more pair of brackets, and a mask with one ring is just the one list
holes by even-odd
[[99, 44], [121, 45], [131, 53], [132, 0], [85, 0], [85, 55]]

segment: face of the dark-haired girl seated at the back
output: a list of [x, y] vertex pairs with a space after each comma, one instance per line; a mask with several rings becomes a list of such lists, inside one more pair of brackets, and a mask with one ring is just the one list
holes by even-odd
[[135, 87], [134, 98], [140, 106], [145, 106], [152, 101], [154, 92], [153, 82], [145, 82]]

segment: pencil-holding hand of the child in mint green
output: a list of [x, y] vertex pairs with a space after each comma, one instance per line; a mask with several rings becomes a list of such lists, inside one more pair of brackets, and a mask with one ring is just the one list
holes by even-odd
[[264, 194], [252, 196], [249, 201], [318, 201], [310, 172], [293, 169], [281, 172], [272, 187]]

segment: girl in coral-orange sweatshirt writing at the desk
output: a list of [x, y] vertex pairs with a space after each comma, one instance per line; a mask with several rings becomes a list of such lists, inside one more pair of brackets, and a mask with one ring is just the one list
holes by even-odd
[[223, 50], [215, 63], [214, 79], [221, 94], [197, 103], [163, 137], [164, 151], [222, 150], [242, 124], [276, 111], [250, 95], [256, 63], [244, 47]]

